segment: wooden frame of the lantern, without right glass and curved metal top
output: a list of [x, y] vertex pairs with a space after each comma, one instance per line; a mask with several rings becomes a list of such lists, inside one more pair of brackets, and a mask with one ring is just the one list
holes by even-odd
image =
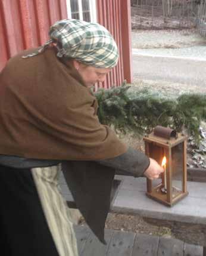
[[[158, 186], [152, 187], [152, 180], [146, 179], [147, 192], [146, 195], [149, 198], [154, 199], [155, 201], [161, 202], [167, 206], [173, 206], [174, 203], [180, 201], [188, 195], [186, 181], [187, 181], [187, 169], [186, 169], [186, 141], [187, 137], [183, 134], [177, 134], [176, 137], [163, 138], [159, 135], [155, 135], [154, 132], [144, 137], [145, 141], [145, 154], [149, 158], [154, 158], [158, 164], [161, 165], [160, 159], [162, 154], [160, 152], [164, 151], [164, 155], [167, 158], [167, 167], [166, 167], [166, 181], [167, 181], [167, 192], [163, 193], [161, 189], [164, 187], [164, 174], [162, 175], [162, 183]], [[183, 143], [182, 150], [182, 191], [179, 192], [179, 195], [173, 198], [172, 195], [172, 159], [171, 159], [171, 150], [173, 147], [178, 144]]]

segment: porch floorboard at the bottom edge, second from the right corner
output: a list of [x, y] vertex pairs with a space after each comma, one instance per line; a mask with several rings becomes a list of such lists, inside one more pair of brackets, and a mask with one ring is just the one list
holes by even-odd
[[183, 256], [184, 243], [178, 239], [160, 238], [158, 256]]

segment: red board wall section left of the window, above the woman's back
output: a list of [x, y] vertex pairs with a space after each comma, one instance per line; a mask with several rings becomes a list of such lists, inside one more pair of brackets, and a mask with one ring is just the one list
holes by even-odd
[[0, 0], [0, 70], [16, 53], [44, 44], [49, 26], [63, 18], [65, 0]]

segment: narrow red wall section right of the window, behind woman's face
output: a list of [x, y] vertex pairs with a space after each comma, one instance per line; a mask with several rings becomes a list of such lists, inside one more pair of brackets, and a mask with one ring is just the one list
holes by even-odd
[[120, 51], [118, 64], [107, 76], [102, 87], [121, 85], [124, 79], [130, 83], [132, 82], [130, 0], [96, 0], [96, 5], [98, 22], [111, 32]]

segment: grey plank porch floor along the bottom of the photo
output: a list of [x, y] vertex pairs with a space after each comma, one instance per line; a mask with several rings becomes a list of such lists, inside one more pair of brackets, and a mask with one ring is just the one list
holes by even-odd
[[178, 239], [105, 230], [103, 245], [87, 226], [74, 226], [79, 256], [202, 256], [202, 246]]

